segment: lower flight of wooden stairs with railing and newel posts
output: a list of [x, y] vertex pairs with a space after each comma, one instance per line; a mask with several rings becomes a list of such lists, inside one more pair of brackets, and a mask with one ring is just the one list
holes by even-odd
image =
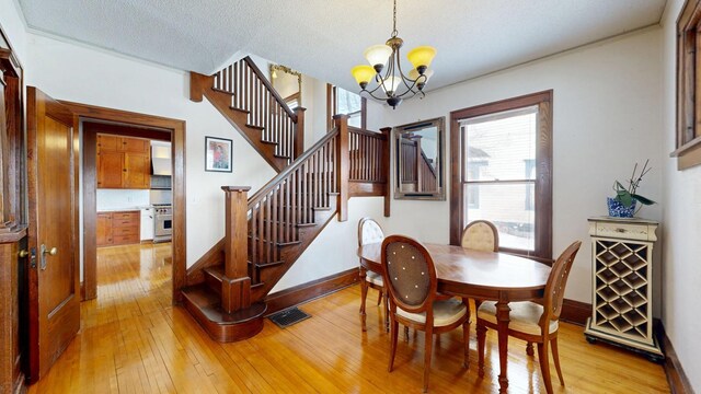
[[188, 271], [182, 289], [185, 306], [214, 339], [257, 334], [265, 296], [336, 213], [347, 220], [347, 116], [334, 119], [333, 130], [251, 198], [248, 187], [222, 187], [226, 237], [205, 255], [202, 274]]

